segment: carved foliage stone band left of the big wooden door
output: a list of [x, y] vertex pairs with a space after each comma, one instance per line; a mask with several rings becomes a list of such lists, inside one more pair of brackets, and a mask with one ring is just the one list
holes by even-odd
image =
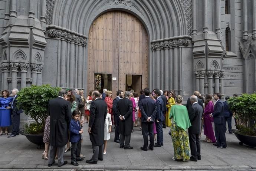
[[82, 37], [81, 35], [69, 32], [68, 30], [63, 32], [62, 30], [49, 29], [47, 30], [47, 33], [49, 37], [63, 39], [69, 42], [77, 43], [78, 45], [83, 45], [84, 47], [87, 45], [87, 37]]

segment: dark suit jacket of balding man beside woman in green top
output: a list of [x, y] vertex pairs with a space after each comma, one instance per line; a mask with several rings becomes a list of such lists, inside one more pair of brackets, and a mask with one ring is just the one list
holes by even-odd
[[203, 108], [198, 103], [195, 103], [193, 106], [191, 106], [188, 116], [191, 123], [191, 126], [188, 128], [188, 133], [200, 134]]

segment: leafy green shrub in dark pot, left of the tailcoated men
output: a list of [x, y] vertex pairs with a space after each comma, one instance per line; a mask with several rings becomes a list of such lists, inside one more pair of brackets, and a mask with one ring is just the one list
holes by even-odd
[[24, 130], [20, 133], [25, 135], [30, 142], [43, 145], [43, 131], [47, 118], [47, 106], [50, 99], [56, 98], [60, 91], [59, 87], [50, 85], [32, 85], [23, 88], [19, 93], [17, 103], [23, 109], [26, 116], [34, 119], [35, 122], [24, 125]]

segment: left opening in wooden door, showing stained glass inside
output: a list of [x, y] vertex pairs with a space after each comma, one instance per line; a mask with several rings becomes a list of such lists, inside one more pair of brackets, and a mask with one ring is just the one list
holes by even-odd
[[103, 89], [111, 90], [111, 74], [95, 73], [95, 90], [102, 93]]

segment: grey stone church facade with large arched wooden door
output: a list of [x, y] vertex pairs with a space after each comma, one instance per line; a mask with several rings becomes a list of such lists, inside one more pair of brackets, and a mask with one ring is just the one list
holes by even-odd
[[1, 0], [0, 89], [253, 93], [255, 17], [254, 0]]

